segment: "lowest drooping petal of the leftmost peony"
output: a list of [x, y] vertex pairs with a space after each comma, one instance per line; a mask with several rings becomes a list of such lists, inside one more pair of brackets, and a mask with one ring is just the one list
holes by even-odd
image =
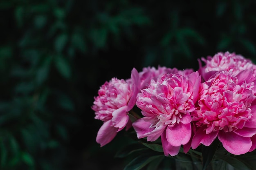
[[112, 126], [112, 121], [108, 120], [99, 128], [96, 141], [101, 147], [108, 144], [117, 135], [118, 128]]

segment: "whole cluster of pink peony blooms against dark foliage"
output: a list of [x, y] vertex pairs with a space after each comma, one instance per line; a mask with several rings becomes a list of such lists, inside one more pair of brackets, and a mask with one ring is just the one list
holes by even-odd
[[[138, 139], [160, 139], [165, 156], [211, 146], [215, 140], [233, 155], [255, 150], [256, 65], [229, 52], [198, 62], [197, 71], [133, 68], [129, 79], [103, 84], [92, 106], [95, 119], [103, 121], [97, 143], [108, 144], [126, 127]], [[135, 107], [141, 113], [132, 111]]]

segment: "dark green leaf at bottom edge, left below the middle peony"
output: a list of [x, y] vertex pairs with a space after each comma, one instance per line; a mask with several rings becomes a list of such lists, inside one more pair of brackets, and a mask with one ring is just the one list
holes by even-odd
[[136, 157], [132, 161], [130, 161], [130, 163], [126, 165], [124, 170], [140, 170], [141, 168], [146, 166], [148, 163], [150, 163], [151, 161], [159, 157], [163, 157], [163, 155], [155, 155], [155, 156], [141, 155], [139, 157]]

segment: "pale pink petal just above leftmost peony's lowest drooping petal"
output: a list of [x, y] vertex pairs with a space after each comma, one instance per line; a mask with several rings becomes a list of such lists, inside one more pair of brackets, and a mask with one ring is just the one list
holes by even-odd
[[112, 123], [115, 128], [119, 128], [118, 131], [122, 130], [129, 120], [129, 116], [127, 114], [128, 112], [126, 112], [126, 109], [127, 106], [123, 106], [112, 113]]

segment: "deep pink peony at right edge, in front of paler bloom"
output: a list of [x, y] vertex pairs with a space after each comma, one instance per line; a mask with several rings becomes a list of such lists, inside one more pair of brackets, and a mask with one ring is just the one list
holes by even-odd
[[216, 137], [234, 155], [255, 149], [256, 86], [252, 73], [244, 70], [237, 74], [230, 69], [202, 83], [198, 108], [191, 113], [196, 128], [192, 149], [200, 144], [209, 146]]

